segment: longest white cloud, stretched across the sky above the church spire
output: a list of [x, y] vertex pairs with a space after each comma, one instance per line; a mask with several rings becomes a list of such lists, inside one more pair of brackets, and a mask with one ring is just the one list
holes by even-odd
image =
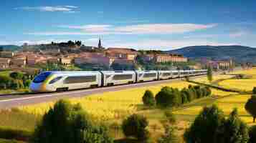
[[81, 29], [86, 34], [177, 34], [209, 29], [217, 24], [137, 24], [114, 26], [109, 24], [88, 24], [82, 26], [59, 26], [68, 29]]

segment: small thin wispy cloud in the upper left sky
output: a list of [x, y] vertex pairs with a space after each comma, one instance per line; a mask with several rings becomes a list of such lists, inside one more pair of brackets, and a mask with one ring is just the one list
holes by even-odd
[[35, 6], [35, 7], [25, 6], [25, 7], [20, 7], [16, 9], [23, 9], [27, 11], [67, 12], [67, 11], [77, 11], [78, 8], [79, 8], [78, 6]]

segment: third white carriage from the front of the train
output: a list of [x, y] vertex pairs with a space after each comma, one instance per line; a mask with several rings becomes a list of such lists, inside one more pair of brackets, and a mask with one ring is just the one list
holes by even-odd
[[137, 82], [148, 82], [158, 79], [158, 71], [136, 71]]

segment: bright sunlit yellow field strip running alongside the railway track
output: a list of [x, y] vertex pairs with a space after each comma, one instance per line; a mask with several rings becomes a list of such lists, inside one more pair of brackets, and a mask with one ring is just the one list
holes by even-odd
[[[151, 87], [140, 87], [136, 89], [125, 89], [117, 92], [105, 92], [94, 94], [89, 97], [70, 99], [72, 103], [80, 103], [89, 114], [100, 120], [119, 119], [137, 111], [137, 105], [142, 104], [142, 97], [146, 89], [154, 94], [164, 86], [182, 89], [189, 86], [189, 82], [174, 82], [170, 84], [159, 84]], [[35, 104], [28, 107], [19, 107], [23, 111], [32, 114], [44, 114], [54, 103]]]

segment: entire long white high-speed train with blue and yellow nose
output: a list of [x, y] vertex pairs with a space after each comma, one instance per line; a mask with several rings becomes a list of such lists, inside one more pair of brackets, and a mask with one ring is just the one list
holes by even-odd
[[172, 71], [44, 71], [30, 84], [32, 92], [62, 92], [207, 74], [202, 70]]

